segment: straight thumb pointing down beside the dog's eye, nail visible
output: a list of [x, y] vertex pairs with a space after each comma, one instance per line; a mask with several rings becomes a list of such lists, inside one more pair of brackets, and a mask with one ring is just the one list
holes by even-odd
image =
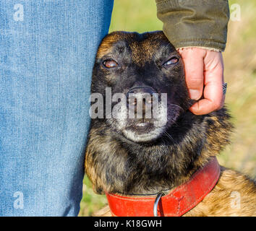
[[202, 49], [185, 49], [179, 51], [184, 61], [185, 79], [189, 97], [198, 100], [203, 90], [203, 51]]

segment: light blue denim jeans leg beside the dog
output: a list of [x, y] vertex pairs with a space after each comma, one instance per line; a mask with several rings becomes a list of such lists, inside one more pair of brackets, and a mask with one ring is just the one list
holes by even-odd
[[0, 1], [0, 215], [76, 216], [113, 0]]

